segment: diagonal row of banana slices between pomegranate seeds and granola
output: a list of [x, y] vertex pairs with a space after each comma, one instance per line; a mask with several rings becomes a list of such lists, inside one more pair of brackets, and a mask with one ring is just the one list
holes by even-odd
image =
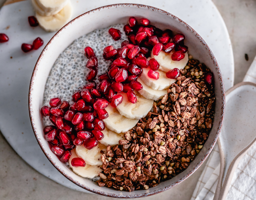
[[[188, 62], [188, 54], [185, 54], [185, 58], [181, 61], [173, 61], [171, 54], [167, 54], [161, 51], [158, 56], [151, 55], [160, 64], [158, 72], [160, 73], [159, 79], [154, 80], [147, 76], [149, 68], [143, 68], [142, 74], [138, 81], [142, 84], [143, 89], [136, 92], [137, 103], [133, 104], [128, 101], [125, 93], [120, 93], [123, 96], [123, 101], [117, 108], [113, 108], [109, 105], [106, 111], [109, 117], [103, 119], [105, 123], [105, 130], [102, 131], [104, 138], [99, 140], [98, 146], [91, 150], [86, 149], [83, 145], [76, 146], [72, 150], [71, 158], [69, 159], [70, 167], [73, 171], [86, 178], [94, 178], [102, 170], [101, 153], [103, 150], [106, 153], [106, 146], [114, 146], [118, 144], [118, 141], [123, 139], [123, 133], [132, 129], [139, 121], [139, 119], [145, 117], [152, 109], [154, 100], [162, 98], [167, 94], [167, 88], [170, 87], [176, 79], [167, 78], [165, 73], [173, 68], [183, 69]], [[86, 162], [85, 167], [73, 167], [71, 165], [72, 158], [80, 157]]]

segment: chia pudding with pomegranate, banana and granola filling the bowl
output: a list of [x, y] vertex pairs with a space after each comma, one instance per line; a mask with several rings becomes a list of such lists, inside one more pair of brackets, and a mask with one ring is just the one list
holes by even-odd
[[185, 170], [208, 138], [215, 101], [212, 73], [185, 42], [134, 17], [76, 39], [45, 85], [54, 154], [116, 190], [146, 190]]

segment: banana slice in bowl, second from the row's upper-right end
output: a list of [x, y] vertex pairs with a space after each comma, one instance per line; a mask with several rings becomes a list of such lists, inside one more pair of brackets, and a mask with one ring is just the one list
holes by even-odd
[[[166, 77], [166, 73], [160, 70], [159, 72], [159, 79], [155, 80], [153, 78], [148, 77], [148, 71], [150, 68], [142, 68], [142, 73], [140, 79], [148, 86], [151, 87], [153, 90], [164, 90], [169, 88], [169, 86], [176, 81], [176, 79], [170, 79]], [[121, 103], [122, 104], [122, 103]], [[121, 105], [120, 104], [120, 105]]]

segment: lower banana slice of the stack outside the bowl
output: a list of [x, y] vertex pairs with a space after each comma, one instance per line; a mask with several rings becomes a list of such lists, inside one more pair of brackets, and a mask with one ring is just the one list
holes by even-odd
[[46, 31], [57, 31], [60, 30], [66, 23], [68, 23], [72, 16], [71, 3], [68, 4], [57, 14], [52, 16], [41, 16], [36, 12], [36, 18], [39, 25]]

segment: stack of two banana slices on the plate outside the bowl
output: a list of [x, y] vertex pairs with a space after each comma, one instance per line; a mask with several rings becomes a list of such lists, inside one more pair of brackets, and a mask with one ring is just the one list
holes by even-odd
[[31, 0], [39, 25], [46, 31], [57, 31], [68, 23], [73, 9], [70, 0]]

